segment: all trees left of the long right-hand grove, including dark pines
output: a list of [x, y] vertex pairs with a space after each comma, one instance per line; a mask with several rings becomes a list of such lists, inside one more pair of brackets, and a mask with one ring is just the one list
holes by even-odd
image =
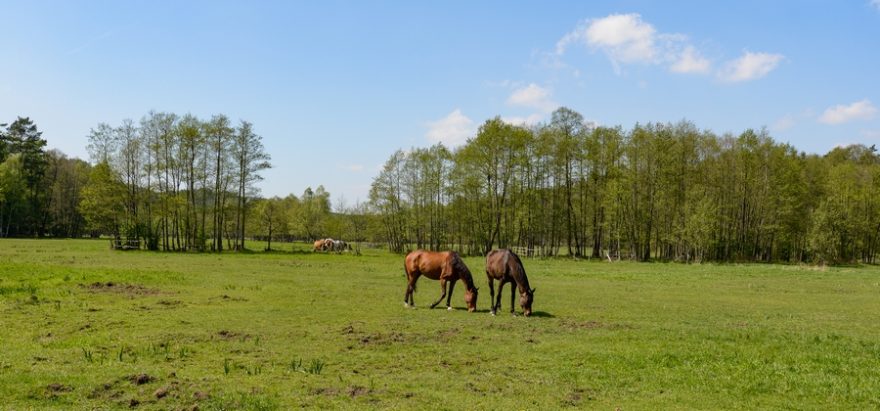
[[29, 118], [0, 124], [0, 237], [111, 236], [137, 248], [242, 250], [245, 238], [366, 239], [366, 204], [334, 213], [323, 186], [261, 198], [269, 155], [253, 125], [150, 112], [98, 124], [91, 163], [46, 150]]

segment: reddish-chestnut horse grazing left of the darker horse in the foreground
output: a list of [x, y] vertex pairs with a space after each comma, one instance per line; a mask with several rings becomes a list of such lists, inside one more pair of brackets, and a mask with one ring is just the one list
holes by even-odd
[[[432, 280], [440, 280], [440, 298], [431, 304], [431, 308], [440, 304], [443, 297], [446, 297], [446, 309], [451, 310], [452, 306], [452, 290], [455, 289], [455, 282], [462, 280], [467, 291], [464, 294], [464, 302], [467, 304], [468, 311], [473, 312], [477, 309], [477, 287], [474, 286], [474, 279], [471, 271], [458, 256], [455, 251], [424, 251], [416, 250], [406, 255], [403, 264], [406, 270], [406, 295], [403, 297], [403, 304], [407, 307], [415, 306], [413, 302], [413, 292], [416, 290], [416, 280], [419, 276], [425, 276]], [[446, 284], [449, 283], [449, 294], [446, 293]]]

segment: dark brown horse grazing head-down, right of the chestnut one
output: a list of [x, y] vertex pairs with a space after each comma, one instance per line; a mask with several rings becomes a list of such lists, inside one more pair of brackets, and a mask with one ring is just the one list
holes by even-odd
[[[486, 277], [489, 278], [489, 295], [493, 301], [492, 315], [501, 309], [501, 290], [505, 283], [516, 282], [519, 289], [519, 305], [526, 317], [532, 315], [532, 301], [535, 299], [535, 289], [529, 288], [529, 278], [526, 277], [526, 269], [522, 260], [513, 251], [502, 249], [492, 250], [486, 255]], [[495, 300], [494, 280], [499, 280], [498, 300]], [[514, 314], [513, 284], [510, 285], [510, 313]]]

